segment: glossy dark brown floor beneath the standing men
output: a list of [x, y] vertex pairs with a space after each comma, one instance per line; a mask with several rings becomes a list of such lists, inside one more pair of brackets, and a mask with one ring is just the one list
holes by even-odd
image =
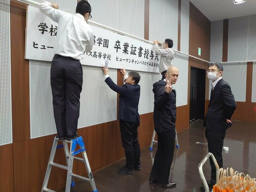
[[[205, 129], [202, 120], [191, 124], [189, 130], [178, 134], [179, 149], [175, 149], [171, 165], [170, 181], [177, 182], [174, 189], [157, 189], [149, 184], [149, 174], [152, 168], [152, 157], [157, 149], [154, 145], [153, 152], [148, 149], [141, 151], [141, 170], [133, 175], [120, 175], [118, 168], [125, 164], [125, 159], [111, 166], [93, 173], [96, 187], [99, 192], [200, 192], [201, 179], [198, 164], [208, 153], [207, 146], [196, 144], [206, 143]], [[233, 167], [239, 172], [244, 172], [256, 177], [256, 123], [233, 121], [233, 126], [227, 130], [224, 146], [229, 147], [228, 153], [223, 151], [224, 167]], [[210, 179], [210, 163], [204, 167], [206, 178]], [[64, 191], [63, 191], [64, 192]], [[89, 183], [76, 182], [71, 192], [92, 192]]]

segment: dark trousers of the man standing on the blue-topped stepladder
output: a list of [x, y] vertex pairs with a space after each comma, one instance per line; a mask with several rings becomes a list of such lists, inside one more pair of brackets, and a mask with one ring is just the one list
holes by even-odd
[[54, 55], [51, 70], [51, 91], [57, 134], [75, 136], [83, 86], [83, 68], [79, 60]]

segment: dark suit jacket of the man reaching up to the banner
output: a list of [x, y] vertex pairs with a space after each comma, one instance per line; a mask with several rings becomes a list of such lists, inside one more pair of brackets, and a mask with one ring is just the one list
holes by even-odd
[[107, 77], [105, 82], [113, 91], [120, 94], [118, 118], [128, 122], [137, 122], [139, 126], [138, 104], [140, 86], [138, 84], [118, 86], [110, 77]]

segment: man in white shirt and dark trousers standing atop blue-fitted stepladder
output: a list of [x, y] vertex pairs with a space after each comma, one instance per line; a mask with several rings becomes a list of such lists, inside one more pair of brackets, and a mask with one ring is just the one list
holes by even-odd
[[76, 14], [58, 10], [58, 5], [43, 1], [39, 5], [43, 14], [58, 23], [58, 33], [51, 63], [51, 90], [53, 112], [60, 140], [77, 137], [80, 110], [80, 93], [83, 86], [83, 68], [80, 60], [91, 51], [94, 44], [92, 29], [87, 24], [91, 18], [90, 4], [81, 0]]

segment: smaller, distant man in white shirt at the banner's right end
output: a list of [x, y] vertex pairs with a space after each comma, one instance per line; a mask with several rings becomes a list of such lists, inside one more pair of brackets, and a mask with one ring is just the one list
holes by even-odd
[[161, 43], [158, 40], [154, 40], [154, 51], [157, 55], [161, 55], [159, 62], [159, 73], [164, 80], [167, 69], [172, 66], [171, 60], [173, 57], [173, 41], [170, 38], [165, 39], [165, 42]]

